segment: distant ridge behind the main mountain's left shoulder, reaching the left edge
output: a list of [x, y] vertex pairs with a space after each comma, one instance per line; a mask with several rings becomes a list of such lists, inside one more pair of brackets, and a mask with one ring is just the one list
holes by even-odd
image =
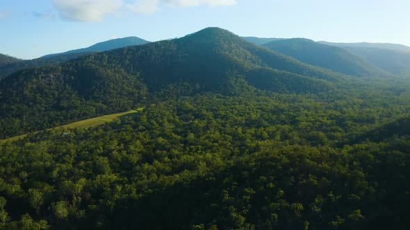
[[45, 55], [43, 57], [35, 58], [33, 60], [22, 60], [20, 62], [13, 62], [0, 65], [0, 80], [10, 76], [10, 74], [27, 69], [30, 67], [44, 67], [47, 65], [61, 64], [69, 60], [73, 60], [83, 55], [90, 55], [92, 53], [108, 51], [115, 48], [122, 48], [125, 46], [134, 46], [139, 44], [146, 44], [147, 41], [139, 37], [124, 37], [120, 39], [111, 39], [106, 42], [100, 42], [88, 48], [80, 48], [74, 51], [67, 51], [65, 53], [56, 53]]

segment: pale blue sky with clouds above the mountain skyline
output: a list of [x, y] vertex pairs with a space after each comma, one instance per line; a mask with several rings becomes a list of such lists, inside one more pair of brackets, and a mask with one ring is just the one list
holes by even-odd
[[216, 26], [241, 36], [410, 46], [409, 0], [0, 0], [0, 53], [33, 59]]

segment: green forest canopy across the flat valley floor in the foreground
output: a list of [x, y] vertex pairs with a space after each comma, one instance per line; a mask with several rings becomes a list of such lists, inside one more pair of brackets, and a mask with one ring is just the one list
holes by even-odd
[[182, 97], [4, 143], [3, 228], [408, 227], [408, 130], [354, 138], [408, 106], [254, 93]]

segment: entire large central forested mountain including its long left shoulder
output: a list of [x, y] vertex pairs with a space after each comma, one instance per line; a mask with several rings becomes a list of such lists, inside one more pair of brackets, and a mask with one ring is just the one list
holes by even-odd
[[120, 112], [154, 97], [206, 91], [241, 94], [254, 87], [318, 94], [333, 91], [334, 84], [345, 85], [346, 79], [250, 44], [227, 30], [206, 28], [180, 39], [13, 74], [0, 82], [0, 134], [4, 138]]

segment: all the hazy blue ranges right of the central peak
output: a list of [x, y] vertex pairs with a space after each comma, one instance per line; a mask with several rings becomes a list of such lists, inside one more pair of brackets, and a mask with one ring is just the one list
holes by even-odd
[[[410, 74], [410, 47], [402, 44], [313, 42], [309, 39], [259, 37], [244, 37], [244, 39], [257, 45], [266, 46], [279, 53], [290, 55], [302, 62], [350, 75]], [[327, 48], [320, 45], [327, 45]], [[330, 47], [339, 47], [339, 49]], [[346, 51], [349, 53], [346, 53]], [[325, 55], [325, 53], [327, 54]], [[331, 60], [334, 62], [331, 62]]]

